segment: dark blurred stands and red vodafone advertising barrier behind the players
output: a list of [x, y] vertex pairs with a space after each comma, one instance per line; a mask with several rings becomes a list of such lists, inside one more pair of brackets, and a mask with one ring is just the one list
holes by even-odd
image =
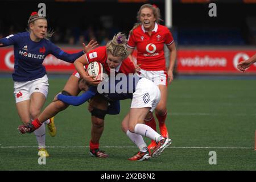
[[[95, 39], [100, 46], [119, 31], [129, 34], [139, 7], [152, 3], [165, 18], [164, 0], [51, 0], [46, 4], [48, 27], [55, 31], [51, 41], [67, 52], [77, 52], [82, 43]], [[210, 17], [209, 3], [216, 3], [217, 16]], [[40, 1], [1, 1], [0, 38], [26, 31], [32, 11]], [[177, 46], [177, 74], [239, 75], [236, 64], [256, 53], [256, 0], [172, 0], [172, 27]], [[165, 24], [163, 21], [161, 24]], [[133, 55], [136, 57], [137, 52]], [[47, 72], [71, 73], [72, 64], [49, 55]], [[0, 73], [12, 72], [13, 47], [0, 48]], [[168, 61], [167, 61], [168, 67]], [[256, 65], [246, 75], [256, 75]]]

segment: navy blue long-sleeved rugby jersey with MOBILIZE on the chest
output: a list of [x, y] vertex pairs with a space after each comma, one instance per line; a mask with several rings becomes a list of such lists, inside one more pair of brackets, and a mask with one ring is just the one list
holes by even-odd
[[30, 39], [30, 32], [9, 35], [0, 39], [0, 43], [2, 47], [14, 45], [14, 81], [30, 81], [46, 75], [43, 61], [49, 54], [69, 63], [84, 54], [83, 51], [66, 53], [47, 39], [34, 42]]

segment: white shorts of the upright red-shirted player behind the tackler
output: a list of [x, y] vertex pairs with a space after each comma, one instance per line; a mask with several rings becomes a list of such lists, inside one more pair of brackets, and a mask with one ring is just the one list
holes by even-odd
[[141, 69], [139, 72], [139, 77], [147, 78], [151, 80], [156, 85], [168, 85], [168, 75], [166, 71], [146, 71]]

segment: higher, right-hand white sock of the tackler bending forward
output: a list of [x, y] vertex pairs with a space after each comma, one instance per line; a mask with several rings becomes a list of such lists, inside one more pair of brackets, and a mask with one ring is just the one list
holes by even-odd
[[135, 125], [134, 132], [142, 136], [145, 136], [147, 138], [150, 138], [152, 140], [155, 140], [155, 142], [158, 142], [159, 140], [164, 139], [161, 135], [156, 133], [155, 130], [151, 129], [151, 127], [144, 124]]

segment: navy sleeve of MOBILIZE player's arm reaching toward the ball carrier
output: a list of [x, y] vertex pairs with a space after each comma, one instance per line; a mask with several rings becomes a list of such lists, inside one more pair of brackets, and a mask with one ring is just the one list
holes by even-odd
[[68, 63], [74, 63], [77, 58], [84, 55], [84, 51], [80, 51], [77, 53], [67, 53], [61, 50], [59, 47], [55, 46], [55, 44], [51, 43], [51, 52], [53, 56], [57, 57], [57, 59], [61, 59]]

